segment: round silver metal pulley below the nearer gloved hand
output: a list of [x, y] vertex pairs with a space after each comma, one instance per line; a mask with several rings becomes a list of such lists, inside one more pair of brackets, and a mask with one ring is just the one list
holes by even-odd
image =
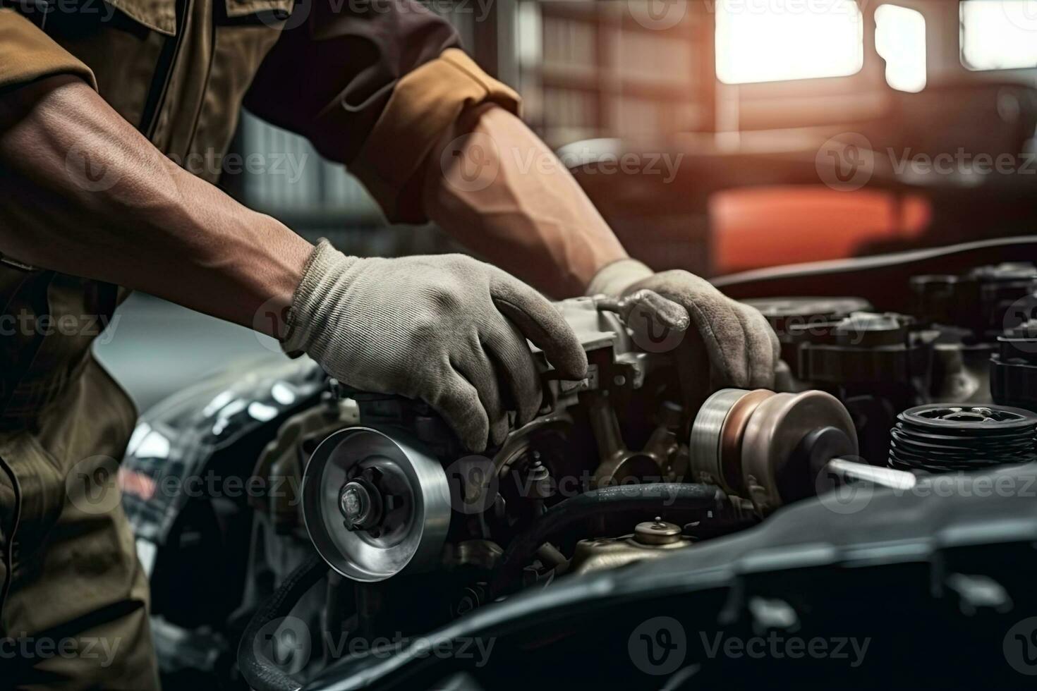
[[303, 519], [320, 556], [347, 578], [422, 571], [439, 562], [450, 525], [447, 477], [402, 434], [346, 428], [306, 465]]

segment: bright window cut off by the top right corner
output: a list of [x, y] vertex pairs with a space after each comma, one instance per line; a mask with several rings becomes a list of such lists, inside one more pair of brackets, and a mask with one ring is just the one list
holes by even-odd
[[965, 67], [1037, 67], [1037, 0], [964, 0], [960, 7]]

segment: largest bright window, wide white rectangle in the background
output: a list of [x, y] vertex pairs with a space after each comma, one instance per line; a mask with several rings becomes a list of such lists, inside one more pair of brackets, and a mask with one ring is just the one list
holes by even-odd
[[845, 77], [864, 65], [854, 0], [719, 0], [717, 77], [725, 84]]

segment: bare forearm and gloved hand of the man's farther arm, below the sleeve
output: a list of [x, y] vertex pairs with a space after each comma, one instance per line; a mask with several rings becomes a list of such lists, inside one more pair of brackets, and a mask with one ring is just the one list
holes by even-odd
[[693, 273], [655, 273], [628, 258], [561, 162], [511, 113], [470, 109], [423, 172], [425, 212], [489, 261], [556, 296], [658, 293], [688, 311], [717, 386], [774, 385], [778, 338], [763, 316]]

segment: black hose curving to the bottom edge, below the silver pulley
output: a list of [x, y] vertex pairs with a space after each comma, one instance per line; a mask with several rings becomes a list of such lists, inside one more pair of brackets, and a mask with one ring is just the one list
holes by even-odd
[[[278, 618], [287, 616], [291, 607], [328, 573], [328, 565], [317, 554], [311, 554], [292, 571], [274, 595], [270, 596], [252, 615], [237, 644], [237, 666], [250, 689], [254, 691], [298, 691], [302, 684], [259, 653], [263, 646], [259, 635]], [[269, 631], [268, 633], [274, 633]]]

